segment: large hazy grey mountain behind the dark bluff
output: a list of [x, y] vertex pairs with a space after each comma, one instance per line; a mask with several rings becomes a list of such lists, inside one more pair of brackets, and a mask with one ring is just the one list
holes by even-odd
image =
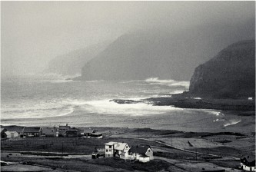
[[194, 68], [234, 41], [254, 38], [254, 21], [121, 35], [82, 68], [82, 80], [189, 81]]

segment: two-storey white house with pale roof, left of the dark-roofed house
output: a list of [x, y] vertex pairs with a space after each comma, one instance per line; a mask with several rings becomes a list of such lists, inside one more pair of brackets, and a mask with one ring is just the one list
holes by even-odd
[[123, 152], [128, 152], [130, 147], [127, 143], [108, 142], [105, 144], [105, 157], [115, 157], [121, 155]]

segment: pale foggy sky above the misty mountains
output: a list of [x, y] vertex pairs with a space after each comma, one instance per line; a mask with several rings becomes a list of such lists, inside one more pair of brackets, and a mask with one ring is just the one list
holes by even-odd
[[251, 18], [255, 2], [1, 2], [1, 74], [40, 72], [57, 55], [128, 31], [235, 25]]

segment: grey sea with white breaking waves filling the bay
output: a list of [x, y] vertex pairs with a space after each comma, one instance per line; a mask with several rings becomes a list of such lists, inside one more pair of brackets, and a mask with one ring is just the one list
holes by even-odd
[[189, 81], [71, 81], [58, 74], [2, 78], [1, 124], [22, 126], [150, 127], [177, 131], [227, 131], [241, 117], [218, 110], [152, 104], [116, 104], [187, 91]]

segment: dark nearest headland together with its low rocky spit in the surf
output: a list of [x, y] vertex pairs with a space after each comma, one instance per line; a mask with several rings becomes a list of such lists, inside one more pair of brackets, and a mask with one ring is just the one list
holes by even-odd
[[[112, 101], [136, 103], [131, 100]], [[181, 108], [255, 111], [255, 41], [238, 41], [210, 61], [200, 64], [191, 78], [189, 91], [141, 101]]]

